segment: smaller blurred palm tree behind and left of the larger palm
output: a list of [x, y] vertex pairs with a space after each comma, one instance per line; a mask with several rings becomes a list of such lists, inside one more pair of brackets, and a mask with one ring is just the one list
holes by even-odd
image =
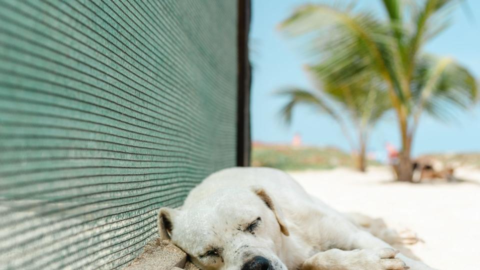
[[365, 171], [366, 147], [369, 131], [389, 109], [388, 96], [380, 91], [378, 81], [364, 80], [355, 83], [336, 83], [335, 73], [323, 77], [324, 66], [320, 63], [306, 67], [311, 75], [314, 90], [291, 87], [279, 92], [288, 97], [281, 114], [290, 123], [292, 110], [297, 105], [313, 107], [326, 113], [338, 123], [353, 152], [355, 168]]

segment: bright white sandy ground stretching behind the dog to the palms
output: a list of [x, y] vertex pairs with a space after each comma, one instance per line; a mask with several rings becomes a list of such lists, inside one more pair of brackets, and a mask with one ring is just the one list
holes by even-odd
[[387, 167], [290, 174], [339, 211], [381, 217], [393, 228], [416, 232], [423, 242], [406, 245], [406, 251], [430, 266], [480, 269], [480, 170], [457, 170], [455, 175], [468, 182], [422, 184], [393, 182]]

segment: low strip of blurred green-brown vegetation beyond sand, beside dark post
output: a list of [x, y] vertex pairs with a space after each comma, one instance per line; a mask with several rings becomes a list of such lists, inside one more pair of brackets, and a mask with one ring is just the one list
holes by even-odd
[[[334, 147], [253, 144], [251, 164], [283, 170], [353, 167], [350, 154]], [[369, 161], [369, 164], [378, 164]]]

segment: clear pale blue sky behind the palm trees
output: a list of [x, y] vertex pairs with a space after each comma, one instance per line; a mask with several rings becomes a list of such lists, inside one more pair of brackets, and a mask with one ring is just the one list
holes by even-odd
[[[250, 58], [252, 74], [252, 139], [271, 143], [289, 143], [294, 133], [302, 136], [304, 144], [332, 145], [348, 150], [339, 127], [325, 115], [308, 108], [294, 111], [292, 124], [285, 125], [278, 110], [285, 99], [274, 92], [285, 86], [309, 87], [302, 71], [305, 57], [298, 44], [285, 38], [276, 25], [306, 0], [253, 0], [250, 31]], [[379, 0], [361, 0], [378, 12]], [[425, 51], [449, 55], [466, 65], [480, 78], [480, 1], [469, 0], [473, 18], [461, 8], [453, 14], [452, 25], [433, 39]], [[387, 115], [373, 130], [369, 151], [383, 153], [386, 141], [399, 145], [398, 131], [393, 116]], [[480, 151], [480, 105], [461, 112], [454, 121], [437, 121], [422, 116], [414, 138], [413, 154], [431, 152]]]

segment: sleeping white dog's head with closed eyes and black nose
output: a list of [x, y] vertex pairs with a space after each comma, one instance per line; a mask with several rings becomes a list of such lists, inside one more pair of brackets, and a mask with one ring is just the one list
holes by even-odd
[[279, 255], [288, 229], [261, 187], [222, 189], [185, 210], [161, 208], [158, 228], [204, 270], [286, 270]]

